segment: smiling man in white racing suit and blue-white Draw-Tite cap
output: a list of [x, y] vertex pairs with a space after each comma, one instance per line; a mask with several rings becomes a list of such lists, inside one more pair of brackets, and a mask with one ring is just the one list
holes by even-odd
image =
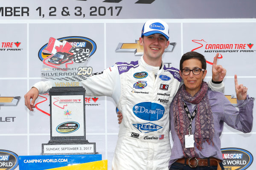
[[[169, 106], [180, 85], [176, 68], [162, 62], [169, 45], [169, 27], [161, 20], [147, 21], [140, 45], [144, 55], [139, 61], [105, 69], [81, 82], [87, 96], [111, 96], [123, 119], [112, 162], [112, 170], [168, 170], [171, 155], [169, 142]], [[215, 65], [214, 81], [220, 82], [226, 71]], [[217, 77], [217, 78], [216, 78]], [[212, 88], [223, 89], [223, 83]], [[49, 81], [38, 82], [25, 95], [25, 104], [34, 108], [38, 94], [52, 88]], [[32, 101], [30, 102], [30, 99]]]

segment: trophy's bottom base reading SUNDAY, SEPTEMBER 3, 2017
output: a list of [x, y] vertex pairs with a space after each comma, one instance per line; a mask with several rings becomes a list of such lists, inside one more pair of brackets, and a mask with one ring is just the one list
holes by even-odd
[[96, 143], [86, 141], [49, 141], [42, 144], [42, 155], [97, 154]]

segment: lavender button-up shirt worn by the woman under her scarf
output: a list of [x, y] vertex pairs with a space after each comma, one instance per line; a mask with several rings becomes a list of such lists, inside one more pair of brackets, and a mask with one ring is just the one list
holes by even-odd
[[[212, 115], [214, 119], [214, 136], [213, 143], [208, 144], [204, 142], [202, 144], [202, 150], [198, 150], [195, 147], [195, 151], [199, 158], [215, 157], [222, 159], [221, 153], [221, 140], [220, 136], [223, 130], [224, 122], [233, 127], [234, 129], [240, 130], [244, 133], [249, 133], [253, 126], [253, 99], [247, 96], [246, 100], [237, 100], [239, 111], [230, 103], [230, 101], [224, 96], [224, 94], [208, 90], [209, 103], [212, 108]], [[189, 112], [192, 113], [195, 110], [195, 105], [186, 102]], [[177, 159], [183, 158], [183, 149], [180, 144], [180, 139], [177, 136], [173, 122], [173, 103], [170, 106], [170, 126], [173, 140], [172, 155], [169, 161], [169, 166], [174, 163]], [[195, 133], [195, 119], [192, 122], [192, 134]], [[195, 140], [195, 139], [194, 139]]]

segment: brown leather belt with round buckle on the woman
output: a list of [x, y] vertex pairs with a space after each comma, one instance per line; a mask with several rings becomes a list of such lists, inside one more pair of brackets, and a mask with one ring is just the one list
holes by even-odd
[[207, 167], [207, 166], [218, 166], [220, 162], [222, 162], [220, 159], [216, 158], [180, 158], [176, 161], [180, 164], [186, 164], [189, 165], [189, 167]]

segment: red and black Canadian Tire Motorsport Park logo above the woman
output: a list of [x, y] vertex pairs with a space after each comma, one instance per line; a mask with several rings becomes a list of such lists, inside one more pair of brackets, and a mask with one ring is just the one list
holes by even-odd
[[[215, 56], [216, 53], [219, 53], [218, 59], [222, 59], [223, 56], [227, 53], [255, 53], [255, 49], [253, 49], [253, 43], [243, 43], [243, 42], [236, 42], [236, 43], [221, 43], [221, 42], [208, 42], [204, 39], [202, 40], [192, 40], [194, 42], [194, 46], [191, 51], [196, 51], [201, 54], [210, 54]], [[211, 60], [206, 61], [208, 64], [213, 64], [213, 57]]]

